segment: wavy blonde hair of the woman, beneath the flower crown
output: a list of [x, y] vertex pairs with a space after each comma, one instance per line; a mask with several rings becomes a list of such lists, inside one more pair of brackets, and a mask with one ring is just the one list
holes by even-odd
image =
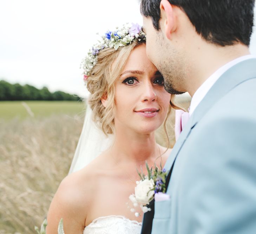
[[[91, 93], [88, 103], [92, 109], [93, 121], [107, 135], [114, 133], [114, 116], [116, 105], [114, 101], [114, 83], [122, 73], [129, 55], [145, 41], [134, 41], [130, 45], [114, 48], [106, 48], [99, 52], [97, 64], [91, 70], [87, 79], [87, 89]], [[103, 106], [101, 98], [107, 98], [106, 107]], [[167, 134], [165, 123], [170, 114], [171, 107], [179, 109], [173, 104], [174, 95], [171, 95], [170, 107], [164, 121], [164, 129]]]

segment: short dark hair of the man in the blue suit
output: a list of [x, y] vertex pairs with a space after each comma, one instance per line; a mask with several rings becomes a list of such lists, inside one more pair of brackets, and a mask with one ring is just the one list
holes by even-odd
[[[168, 0], [182, 9], [196, 32], [216, 45], [249, 46], [253, 27], [255, 0]], [[159, 30], [160, 0], [141, 0], [140, 12], [152, 19]]]

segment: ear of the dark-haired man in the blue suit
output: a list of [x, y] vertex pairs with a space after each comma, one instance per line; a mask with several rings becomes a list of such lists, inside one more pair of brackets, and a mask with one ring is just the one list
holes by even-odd
[[176, 30], [177, 21], [175, 13], [173, 12], [173, 5], [168, 0], [161, 0], [160, 2], [160, 20], [162, 30], [169, 40], [172, 39], [172, 33]]

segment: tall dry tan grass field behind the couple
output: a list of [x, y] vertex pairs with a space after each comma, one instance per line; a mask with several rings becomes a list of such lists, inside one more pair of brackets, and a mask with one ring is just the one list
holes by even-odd
[[[187, 100], [179, 103], [187, 108]], [[85, 111], [6, 120], [0, 116], [0, 234], [35, 234], [67, 175]], [[171, 146], [174, 111], [168, 120]], [[166, 145], [163, 128], [157, 142]]]

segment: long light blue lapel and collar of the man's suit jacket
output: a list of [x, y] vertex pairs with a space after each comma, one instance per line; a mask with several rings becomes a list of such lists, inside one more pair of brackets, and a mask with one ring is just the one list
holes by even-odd
[[188, 138], [189, 133], [193, 127], [203, 118], [209, 109], [221, 99], [231, 89], [251, 78], [256, 77], [256, 59], [248, 59], [237, 63], [226, 71], [211, 87], [209, 92], [205, 95], [204, 99], [199, 103], [194, 113], [191, 115], [185, 128], [179, 136], [178, 141], [172, 149], [172, 152], [165, 163], [164, 168], [169, 170], [175, 161], [180, 148], [183, 146], [185, 140]]

